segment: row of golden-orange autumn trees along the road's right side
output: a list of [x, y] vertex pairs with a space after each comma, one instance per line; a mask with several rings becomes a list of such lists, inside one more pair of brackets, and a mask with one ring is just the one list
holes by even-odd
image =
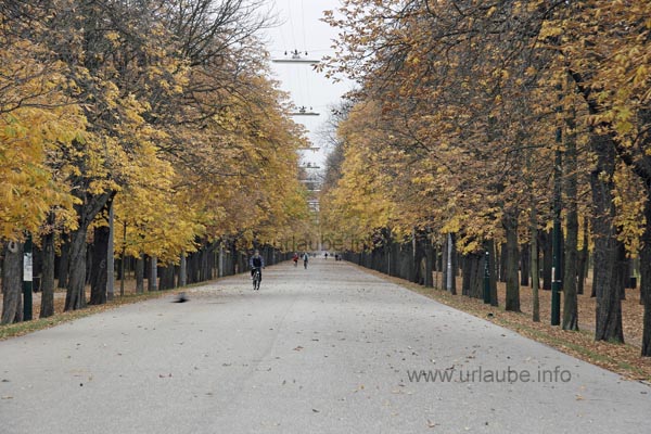
[[480, 259], [503, 243], [506, 309], [520, 310], [520, 245], [537, 291], [539, 233], [563, 220], [563, 328], [578, 328], [588, 244], [596, 339], [623, 342], [621, 265], [639, 255], [651, 356], [651, 3], [347, 0], [339, 12], [326, 67], [359, 89], [326, 228], [367, 246], [455, 234]]

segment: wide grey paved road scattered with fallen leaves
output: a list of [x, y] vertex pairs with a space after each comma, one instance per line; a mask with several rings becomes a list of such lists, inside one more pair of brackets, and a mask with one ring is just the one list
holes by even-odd
[[348, 264], [250, 286], [0, 342], [0, 433], [651, 432], [651, 387]]

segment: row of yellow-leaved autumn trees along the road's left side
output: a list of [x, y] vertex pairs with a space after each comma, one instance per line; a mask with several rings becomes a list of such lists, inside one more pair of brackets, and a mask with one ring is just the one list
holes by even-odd
[[0, 1], [2, 323], [22, 320], [27, 234], [47, 316], [56, 254], [78, 309], [88, 243], [106, 252], [113, 235], [123, 258], [174, 264], [220, 240], [272, 243], [307, 215], [304, 133], [269, 78], [261, 7]]

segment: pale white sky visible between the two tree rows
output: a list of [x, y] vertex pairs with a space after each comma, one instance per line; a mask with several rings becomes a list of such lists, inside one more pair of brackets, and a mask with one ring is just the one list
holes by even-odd
[[[332, 39], [336, 29], [320, 21], [324, 10], [335, 10], [339, 0], [268, 0], [281, 25], [266, 31], [269, 40], [268, 50], [271, 59], [291, 58], [290, 52], [298, 50], [303, 58], [321, 59], [333, 54]], [[285, 51], [288, 55], [285, 56]], [[308, 54], [305, 55], [305, 52]], [[321, 148], [319, 152], [304, 152], [304, 162], [322, 166], [326, 150], [324, 143], [316, 133], [329, 116], [329, 107], [336, 105], [341, 97], [349, 90], [350, 84], [333, 84], [317, 73], [308, 64], [272, 63], [272, 71], [281, 82], [281, 89], [289, 91], [292, 102], [305, 106], [308, 111], [320, 113], [319, 116], [295, 116], [296, 123], [308, 130], [308, 139], [312, 145]]]

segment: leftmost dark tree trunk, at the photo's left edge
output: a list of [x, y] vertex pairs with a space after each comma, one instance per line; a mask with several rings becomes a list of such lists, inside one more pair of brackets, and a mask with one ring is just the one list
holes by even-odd
[[5, 243], [3, 256], [0, 324], [11, 324], [23, 321], [23, 243]]

